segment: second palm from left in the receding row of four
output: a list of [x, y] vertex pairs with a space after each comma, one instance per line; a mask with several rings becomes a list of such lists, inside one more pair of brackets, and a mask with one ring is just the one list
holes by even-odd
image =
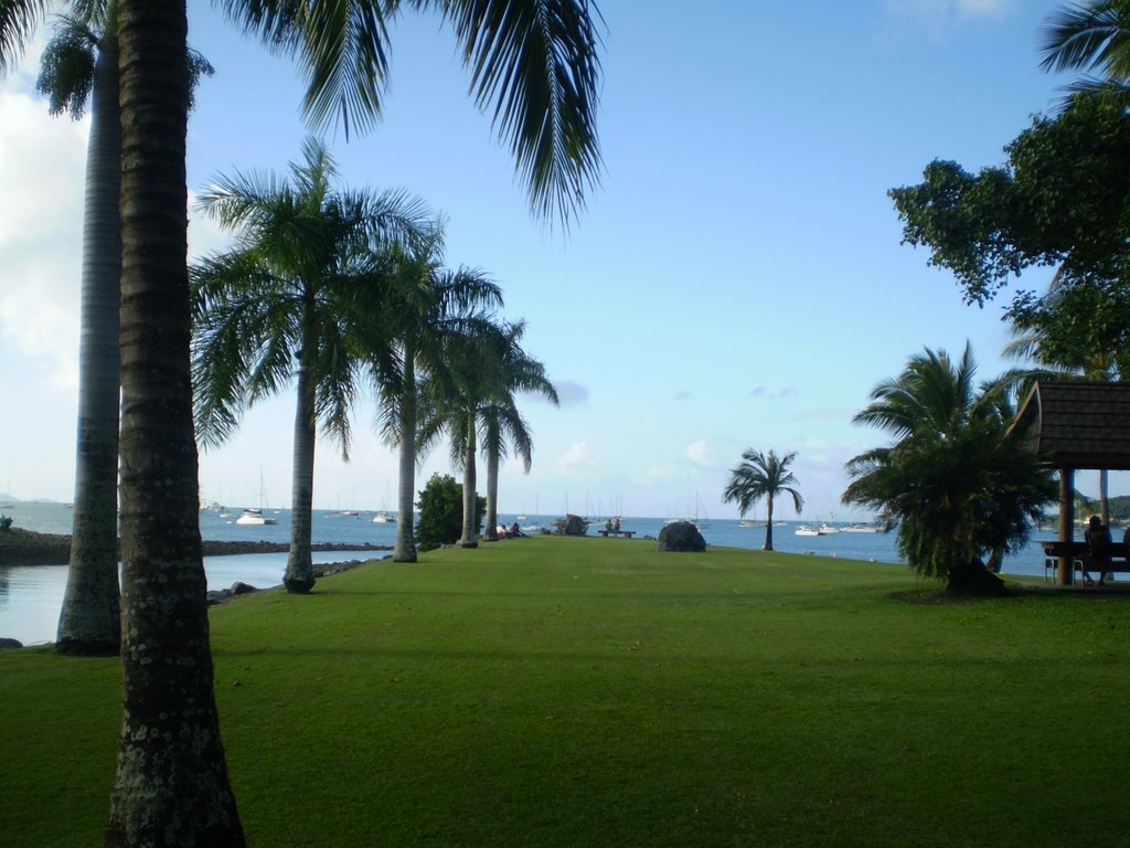
[[479, 270], [443, 268], [443, 227], [438, 223], [415, 245], [394, 246], [389, 258], [392, 285], [385, 305], [386, 327], [400, 355], [377, 358], [373, 377], [381, 398], [381, 432], [399, 450], [392, 559], [416, 562], [412, 502], [419, 383], [445, 377], [445, 341], [471, 331], [481, 320], [479, 310], [501, 306], [502, 291]]

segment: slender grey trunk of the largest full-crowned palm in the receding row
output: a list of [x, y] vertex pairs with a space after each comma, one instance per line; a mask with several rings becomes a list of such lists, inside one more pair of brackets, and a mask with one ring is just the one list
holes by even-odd
[[318, 419], [314, 415], [313, 369], [307, 356], [313, 351], [304, 345], [298, 356], [298, 403], [294, 414], [294, 468], [292, 470], [290, 555], [286, 562], [282, 585], [290, 592], [307, 592], [314, 588], [314, 564], [310, 556], [311, 521], [314, 509], [314, 445]]

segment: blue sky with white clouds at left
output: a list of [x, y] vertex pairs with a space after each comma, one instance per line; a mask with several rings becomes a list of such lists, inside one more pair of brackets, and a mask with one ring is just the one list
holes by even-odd
[[[503, 466], [499, 510], [737, 517], [722, 491], [747, 448], [797, 453], [805, 517], [840, 502], [844, 462], [886, 443], [852, 423], [924, 347], [972, 345], [984, 379], [1009, 363], [1005, 293], [962, 302], [928, 251], [899, 243], [887, 197], [935, 158], [1005, 161], [1069, 81], [1038, 68], [1051, 0], [603, 0], [603, 171], [566, 230], [536, 218], [451, 32], [392, 28], [383, 119], [320, 135], [341, 185], [403, 189], [446, 220], [450, 267], [487, 271], [524, 319], [555, 408], [523, 398], [533, 467]], [[679, 14], [683, 12], [683, 14]], [[219, 174], [284, 174], [314, 131], [296, 66], [189, 0], [190, 42], [216, 68], [189, 124], [190, 254], [228, 235], [191, 211]], [[86, 121], [51, 118], [37, 37], [0, 79], [0, 492], [73, 497]], [[1046, 277], [1026, 274], [1023, 287]], [[200, 456], [201, 497], [289, 503], [293, 387]], [[364, 400], [350, 461], [320, 439], [315, 507], [392, 509], [397, 467]], [[458, 473], [445, 445], [418, 471]], [[483, 478], [480, 471], [480, 479]], [[1093, 481], [1078, 479], [1087, 491]], [[1112, 493], [1125, 487], [1119, 475]], [[791, 504], [785, 517], [792, 517]]]

